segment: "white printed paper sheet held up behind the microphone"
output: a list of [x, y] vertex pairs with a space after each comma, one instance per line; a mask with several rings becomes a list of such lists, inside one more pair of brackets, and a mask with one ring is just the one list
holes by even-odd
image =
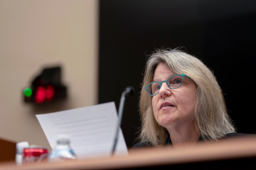
[[[110, 156], [116, 136], [118, 115], [114, 102], [36, 115], [52, 149], [58, 134], [71, 136], [71, 148], [78, 159]], [[115, 155], [128, 155], [119, 128]]]

